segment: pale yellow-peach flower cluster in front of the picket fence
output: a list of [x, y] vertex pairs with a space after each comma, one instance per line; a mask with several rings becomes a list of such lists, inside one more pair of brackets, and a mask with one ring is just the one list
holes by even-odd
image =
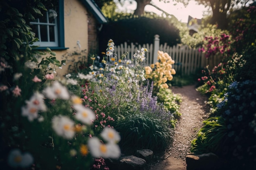
[[151, 64], [151, 66], [146, 66], [146, 79], [150, 79], [150, 81], [154, 82], [154, 86], [156, 88], [168, 88], [167, 81], [171, 81], [173, 79], [173, 75], [176, 74], [175, 69], [172, 68], [172, 64], [174, 64], [174, 60], [172, 60], [171, 56], [163, 51], [157, 52], [157, 60], [155, 64]]

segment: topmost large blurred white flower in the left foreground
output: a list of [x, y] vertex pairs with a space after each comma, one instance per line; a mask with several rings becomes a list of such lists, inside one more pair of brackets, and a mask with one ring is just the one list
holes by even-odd
[[49, 99], [69, 99], [70, 95], [68, 94], [67, 88], [62, 86], [59, 82], [55, 81], [53, 82], [52, 86], [47, 86], [43, 93], [45, 93], [45, 96]]

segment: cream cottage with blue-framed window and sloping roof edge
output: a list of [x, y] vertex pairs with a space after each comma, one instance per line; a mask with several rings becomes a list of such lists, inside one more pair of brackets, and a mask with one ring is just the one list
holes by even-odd
[[[39, 41], [38, 49], [49, 47], [58, 60], [74, 51], [84, 51], [86, 56], [99, 51], [98, 31], [101, 24], [108, 22], [93, 0], [55, 0], [53, 9], [43, 17], [30, 22]], [[67, 63], [72, 64], [72, 63]], [[58, 75], [67, 73], [67, 66], [57, 70]]]

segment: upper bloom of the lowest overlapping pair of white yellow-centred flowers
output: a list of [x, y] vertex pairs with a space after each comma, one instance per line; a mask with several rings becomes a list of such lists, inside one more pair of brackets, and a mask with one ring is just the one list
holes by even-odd
[[105, 127], [101, 132], [101, 137], [109, 143], [118, 143], [121, 139], [119, 133], [114, 128]]

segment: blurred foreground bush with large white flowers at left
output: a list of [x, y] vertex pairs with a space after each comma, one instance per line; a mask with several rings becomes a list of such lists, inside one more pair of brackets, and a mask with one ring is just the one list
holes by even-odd
[[47, 51], [49, 57], [21, 56], [13, 63], [1, 58], [1, 167], [88, 169], [92, 157], [119, 157], [119, 134], [105, 127], [94, 135], [96, 114], [54, 80], [65, 61]]

